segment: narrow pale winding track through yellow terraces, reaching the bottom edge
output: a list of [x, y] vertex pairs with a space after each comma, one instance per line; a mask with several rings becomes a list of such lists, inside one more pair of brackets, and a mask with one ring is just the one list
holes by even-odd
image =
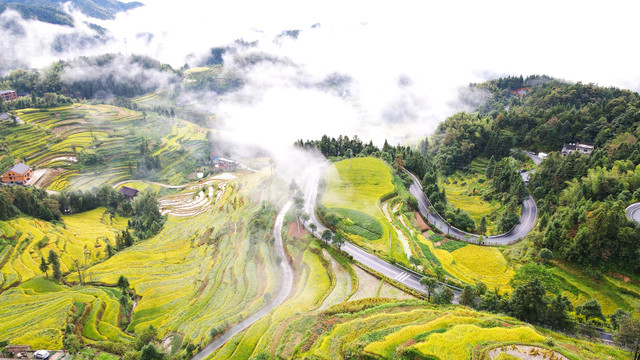
[[280, 290], [278, 291], [278, 295], [265, 307], [224, 332], [220, 337], [215, 339], [212, 343], [202, 349], [202, 351], [196, 354], [196, 356], [194, 356], [192, 360], [204, 360], [209, 357], [211, 354], [213, 354], [214, 351], [218, 350], [236, 334], [244, 331], [249, 326], [253, 325], [256, 321], [262, 319], [271, 310], [282, 305], [284, 300], [289, 295], [289, 292], [291, 292], [291, 288], [293, 286], [293, 270], [291, 269], [291, 265], [289, 264], [289, 262], [286, 260], [287, 257], [284, 252], [284, 245], [282, 241], [282, 224], [284, 222], [284, 216], [287, 211], [289, 211], [291, 204], [292, 202], [290, 200], [282, 207], [280, 213], [278, 214], [278, 217], [276, 218], [276, 223], [273, 228], [276, 255], [280, 260], [280, 269], [282, 271], [282, 276], [280, 278]]

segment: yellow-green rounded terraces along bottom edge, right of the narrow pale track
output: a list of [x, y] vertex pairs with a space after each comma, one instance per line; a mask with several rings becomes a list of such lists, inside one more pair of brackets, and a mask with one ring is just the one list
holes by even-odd
[[438, 308], [418, 300], [343, 303], [281, 324], [270, 341], [258, 342], [245, 354], [327, 360], [491, 359], [488, 356], [496, 349], [518, 344], [551, 350], [570, 359], [628, 356], [616, 348], [566, 338], [513, 318], [463, 308]]

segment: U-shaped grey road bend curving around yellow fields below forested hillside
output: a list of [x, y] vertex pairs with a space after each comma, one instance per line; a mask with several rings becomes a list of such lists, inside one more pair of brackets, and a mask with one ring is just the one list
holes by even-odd
[[[458, 240], [479, 244], [480, 235], [470, 234], [459, 230], [446, 222], [437, 212], [429, 211], [431, 203], [427, 196], [422, 192], [422, 184], [418, 181], [418, 178], [409, 173], [413, 177], [413, 184], [409, 188], [409, 192], [416, 199], [418, 199], [418, 208], [422, 216], [427, 218], [433, 226], [449, 236], [455, 237]], [[513, 227], [510, 231], [500, 234], [487, 236], [482, 241], [482, 245], [508, 245], [512, 244], [522, 238], [524, 238], [533, 227], [536, 225], [536, 219], [538, 218], [538, 207], [535, 200], [531, 196], [522, 203], [522, 215], [520, 216], [520, 223]]]

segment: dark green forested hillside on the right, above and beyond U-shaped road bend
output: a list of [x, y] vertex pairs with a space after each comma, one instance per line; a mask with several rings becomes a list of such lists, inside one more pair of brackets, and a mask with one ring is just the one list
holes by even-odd
[[[472, 85], [491, 93], [475, 113], [458, 113], [433, 136], [441, 173], [468, 171], [477, 157], [547, 151], [529, 191], [539, 208], [537, 249], [589, 265], [589, 271], [640, 272], [640, 232], [624, 209], [640, 200], [640, 96], [546, 76]], [[561, 156], [565, 143], [592, 144], [591, 155]], [[535, 251], [531, 251], [535, 253]]]

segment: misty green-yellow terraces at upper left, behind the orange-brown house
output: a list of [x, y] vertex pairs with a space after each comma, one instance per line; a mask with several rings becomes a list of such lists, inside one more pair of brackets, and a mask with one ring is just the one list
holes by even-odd
[[[208, 148], [207, 130], [180, 119], [153, 112], [137, 112], [109, 105], [73, 104], [48, 109], [15, 112], [26, 124], [3, 126], [13, 158], [32, 167], [65, 169], [49, 186], [87, 190], [101, 183], [130, 179], [142, 140], [159, 156], [163, 170], [158, 179], [182, 183], [190, 168], [191, 155]], [[80, 166], [83, 151], [95, 152], [105, 164]], [[69, 160], [73, 159], [73, 160]], [[195, 165], [194, 165], [195, 166]]]

